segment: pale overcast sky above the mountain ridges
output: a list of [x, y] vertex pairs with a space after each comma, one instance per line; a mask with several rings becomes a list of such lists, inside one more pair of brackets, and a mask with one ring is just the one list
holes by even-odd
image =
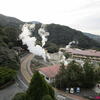
[[100, 35], [100, 0], [0, 0], [0, 13]]

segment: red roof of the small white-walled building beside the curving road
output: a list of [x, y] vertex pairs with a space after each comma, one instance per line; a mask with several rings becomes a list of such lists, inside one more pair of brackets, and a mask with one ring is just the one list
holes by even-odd
[[49, 67], [39, 68], [38, 71], [41, 71], [43, 74], [45, 74], [49, 78], [53, 78], [58, 74], [59, 68], [60, 68], [60, 65], [53, 65]]

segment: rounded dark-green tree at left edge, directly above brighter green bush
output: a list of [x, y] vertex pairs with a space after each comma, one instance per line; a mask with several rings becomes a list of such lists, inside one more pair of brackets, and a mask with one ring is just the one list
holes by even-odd
[[14, 50], [0, 47], [0, 65], [12, 69], [19, 68], [19, 59]]

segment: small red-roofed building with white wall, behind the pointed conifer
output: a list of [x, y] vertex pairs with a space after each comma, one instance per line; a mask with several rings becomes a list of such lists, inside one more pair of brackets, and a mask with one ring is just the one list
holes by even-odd
[[48, 83], [52, 83], [55, 80], [55, 76], [58, 74], [60, 65], [53, 65], [49, 67], [38, 68], [40, 74], [42, 74]]

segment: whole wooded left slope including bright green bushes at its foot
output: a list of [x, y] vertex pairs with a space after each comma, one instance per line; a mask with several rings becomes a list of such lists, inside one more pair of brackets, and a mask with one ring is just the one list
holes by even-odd
[[4, 17], [3, 20], [1, 19], [0, 16], [0, 89], [12, 84], [15, 80], [20, 61], [14, 47], [19, 45], [18, 35], [21, 32], [18, 23], [14, 25]]

